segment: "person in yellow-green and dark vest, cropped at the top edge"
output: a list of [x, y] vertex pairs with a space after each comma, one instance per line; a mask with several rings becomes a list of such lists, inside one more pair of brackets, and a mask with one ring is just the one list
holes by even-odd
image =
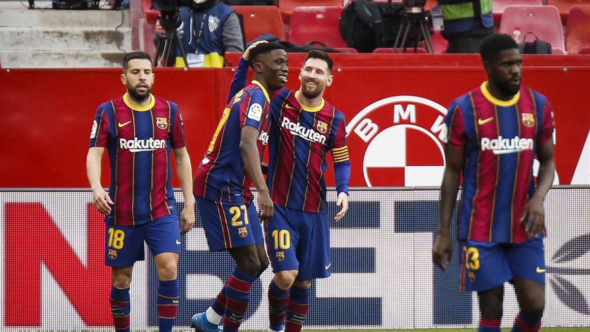
[[438, 0], [447, 53], [478, 53], [483, 38], [494, 32], [492, 0]]

